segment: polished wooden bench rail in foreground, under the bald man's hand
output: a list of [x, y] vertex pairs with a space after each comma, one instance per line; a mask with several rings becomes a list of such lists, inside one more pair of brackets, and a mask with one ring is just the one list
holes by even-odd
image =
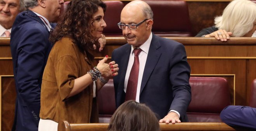
[[[58, 131], [107, 131], [108, 123], [70, 124], [61, 121]], [[225, 123], [176, 123], [159, 124], [161, 131], [235, 131]], [[240, 131], [243, 129], [239, 129]]]

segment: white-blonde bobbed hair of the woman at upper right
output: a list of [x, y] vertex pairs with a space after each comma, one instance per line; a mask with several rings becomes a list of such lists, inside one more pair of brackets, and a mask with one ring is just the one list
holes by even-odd
[[232, 32], [232, 37], [242, 37], [253, 29], [256, 22], [256, 3], [250, 0], [233, 0], [214, 19], [215, 27]]

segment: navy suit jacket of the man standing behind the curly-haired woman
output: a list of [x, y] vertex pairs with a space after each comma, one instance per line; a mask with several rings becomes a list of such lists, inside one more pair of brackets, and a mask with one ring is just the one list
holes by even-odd
[[52, 48], [48, 39], [48, 30], [35, 13], [17, 15], [10, 37], [17, 91], [13, 130], [38, 130], [42, 75]]

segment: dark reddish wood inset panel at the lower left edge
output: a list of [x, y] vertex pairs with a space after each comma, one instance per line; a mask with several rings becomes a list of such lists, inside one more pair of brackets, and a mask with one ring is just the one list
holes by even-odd
[[16, 102], [16, 89], [13, 76], [0, 76], [0, 91], [0, 130], [11, 131]]

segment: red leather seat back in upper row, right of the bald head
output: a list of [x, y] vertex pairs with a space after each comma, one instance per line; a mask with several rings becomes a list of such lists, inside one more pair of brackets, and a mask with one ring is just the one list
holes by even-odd
[[152, 32], [165, 37], [192, 37], [187, 3], [183, 0], [144, 0], [154, 13]]

